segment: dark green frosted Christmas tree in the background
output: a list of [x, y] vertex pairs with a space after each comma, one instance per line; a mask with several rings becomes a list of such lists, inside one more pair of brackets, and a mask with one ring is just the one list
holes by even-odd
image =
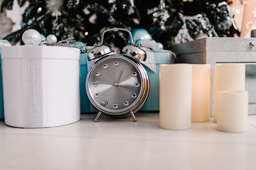
[[[29, 2], [22, 15], [21, 29], [3, 39], [22, 44], [22, 34], [36, 29], [58, 40], [73, 37], [88, 46], [99, 44], [102, 31], [119, 27], [130, 31], [146, 29], [165, 49], [192, 41], [198, 35], [235, 37], [236, 28], [228, 0], [18, 0]], [[13, 0], [3, 0], [1, 12], [12, 9]], [[113, 31], [105, 44], [124, 47], [126, 32]]]

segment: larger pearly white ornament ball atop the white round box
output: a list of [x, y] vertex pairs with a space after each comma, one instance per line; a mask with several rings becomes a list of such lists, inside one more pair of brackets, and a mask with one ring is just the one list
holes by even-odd
[[22, 41], [25, 45], [39, 45], [41, 43], [41, 35], [35, 29], [28, 29], [22, 34]]

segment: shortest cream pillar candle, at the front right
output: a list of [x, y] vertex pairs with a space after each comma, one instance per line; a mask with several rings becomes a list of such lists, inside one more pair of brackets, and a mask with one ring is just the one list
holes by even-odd
[[248, 92], [228, 90], [218, 92], [217, 130], [246, 132], [248, 119]]

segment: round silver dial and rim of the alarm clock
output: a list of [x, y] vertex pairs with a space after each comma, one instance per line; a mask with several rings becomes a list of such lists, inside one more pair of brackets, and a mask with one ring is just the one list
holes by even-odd
[[149, 93], [144, 67], [121, 54], [97, 60], [88, 71], [85, 86], [92, 105], [112, 116], [137, 112]]

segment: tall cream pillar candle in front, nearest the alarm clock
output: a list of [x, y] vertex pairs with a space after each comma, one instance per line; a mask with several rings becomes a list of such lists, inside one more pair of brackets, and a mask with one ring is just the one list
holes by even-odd
[[191, 128], [192, 66], [161, 64], [159, 74], [159, 127]]

